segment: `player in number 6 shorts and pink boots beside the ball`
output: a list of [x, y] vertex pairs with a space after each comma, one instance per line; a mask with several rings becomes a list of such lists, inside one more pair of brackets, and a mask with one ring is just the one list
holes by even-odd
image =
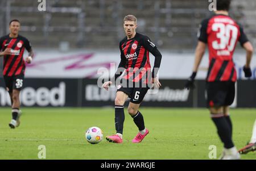
[[[149, 85], [152, 83], [155, 87], [161, 86], [156, 74], [160, 67], [162, 55], [147, 36], [136, 32], [137, 19], [134, 15], [125, 16], [123, 27], [126, 37], [119, 43], [121, 62], [114, 78], [111, 81], [105, 82], [103, 85], [108, 90], [109, 86], [125, 72], [122, 77], [122, 85], [118, 85], [117, 95], [115, 97], [115, 130], [117, 134], [106, 136], [106, 139], [113, 143], [122, 143], [123, 122], [125, 120], [123, 105], [129, 97], [128, 112], [139, 130], [132, 142], [140, 143], [148, 134], [148, 130], [144, 126], [143, 116], [138, 109], [144, 95], [146, 95], [150, 88]], [[152, 73], [149, 52], [155, 56]]]

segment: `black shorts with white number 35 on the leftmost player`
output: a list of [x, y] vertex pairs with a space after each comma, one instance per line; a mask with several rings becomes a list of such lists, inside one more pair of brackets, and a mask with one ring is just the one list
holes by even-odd
[[18, 76], [3, 76], [3, 79], [5, 80], [5, 86], [6, 90], [9, 91], [9, 93], [13, 93], [13, 90], [22, 90], [23, 81], [24, 81], [24, 75], [20, 74]]

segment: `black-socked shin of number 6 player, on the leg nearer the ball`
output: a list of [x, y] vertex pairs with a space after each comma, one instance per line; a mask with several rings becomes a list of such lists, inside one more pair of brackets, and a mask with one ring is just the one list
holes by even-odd
[[115, 130], [117, 131], [118, 136], [122, 136], [123, 134], [123, 122], [125, 122], [125, 111], [123, 111], [123, 106], [115, 105]]

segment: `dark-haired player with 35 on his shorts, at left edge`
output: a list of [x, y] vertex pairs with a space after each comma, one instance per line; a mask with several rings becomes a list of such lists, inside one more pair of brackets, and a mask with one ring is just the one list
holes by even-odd
[[[27, 49], [29, 55], [26, 62], [30, 64], [34, 53], [30, 42], [26, 37], [19, 35], [19, 20], [11, 20], [9, 24], [10, 34], [0, 38], [0, 57], [3, 56], [3, 78], [6, 90], [11, 98], [13, 119], [9, 123], [11, 128], [18, 127], [20, 124], [20, 101], [19, 93], [24, 83], [25, 61], [23, 59], [24, 50]], [[2, 52], [1, 52], [2, 51]]]

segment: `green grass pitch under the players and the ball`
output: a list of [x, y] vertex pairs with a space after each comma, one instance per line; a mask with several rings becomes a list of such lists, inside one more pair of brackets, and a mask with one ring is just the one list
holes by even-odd
[[[138, 130], [125, 112], [123, 143], [105, 140], [114, 134], [114, 109], [110, 108], [23, 108], [20, 127], [11, 130], [10, 109], [0, 109], [0, 159], [38, 159], [38, 146], [46, 146], [46, 159], [209, 159], [209, 146], [222, 143], [207, 109], [142, 108], [150, 130], [142, 143], [131, 140]], [[233, 140], [237, 148], [250, 140], [256, 109], [232, 109]], [[104, 132], [101, 143], [85, 140], [87, 128]], [[256, 153], [242, 155], [256, 159]]]

